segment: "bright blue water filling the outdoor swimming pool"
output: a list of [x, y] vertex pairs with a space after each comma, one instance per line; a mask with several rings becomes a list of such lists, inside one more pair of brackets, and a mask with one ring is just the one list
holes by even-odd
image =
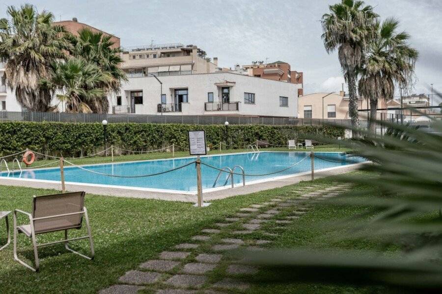
[[[332, 168], [337, 166], [345, 166], [348, 164], [364, 161], [358, 157], [347, 157], [343, 153], [332, 152], [315, 152], [315, 154], [323, 159], [315, 158], [315, 171], [320, 169]], [[217, 168], [229, 167], [236, 165], [242, 166], [247, 174], [264, 174], [281, 171], [305, 158], [301, 163], [284, 172], [278, 172], [271, 175], [263, 176], [246, 176], [246, 183], [255, 180], [262, 180], [283, 175], [290, 175], [300, 172], [308, 172], [311, 168], [309, 152], [259, 152], [259, 153], [239, 153], [229, 155], [213, 155], [202, 156], [201, 162], [215, 166]], [[185, 165], [195, 160], [195, 157], [164, 159], [164, 160], [148, 160], [142, 162], [114, 163], [103, 165], [83, 166], [85, 169], [114, 175], [143, 175], [157, 172], [164, 172]], [[241, 173], [240, 169], [235, 172]], [[203, 189], [212, 188], [219, 171], [210, 167], [201, 165], [202, 186]], [[37, 180], [53, 180], [60, 181], [59, 168], [41, 169], [33, 171], [2, 172], [0, 176], [27, 178]], [[130, 186], [138, 188], [179, 190], [193, 192], [196, 191], [196, 171], [195, 165], [189, 165], [180, 170], [168, 172], [160, 175], [139, 178], [120, 178], [105, 175], [99, 175], [84, 171], [77, 167], [65, 167], [64, 176], [66, 182], [114, 185], [114, 186]], [[227, 179], [227, 173], [223, 173], [216, 187], [223, 186]], [[234, 175], [234, 182], [241, 183], [242, 176]], [[230, 180], [227, 185], [230, 184]]]

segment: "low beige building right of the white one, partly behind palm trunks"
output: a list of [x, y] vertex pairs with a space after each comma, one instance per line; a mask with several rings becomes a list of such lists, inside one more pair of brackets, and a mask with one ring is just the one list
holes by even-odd
[[[349, 98], [340, 93], [313, 93], [299, 97], [298, 118], [348, 120]], [[379, 101], [378, 108], [385, 108], [385, 102]], [[358, 109], [370, 109], [367, 99], [358, 99]], [[378, 111], [379, 112], [379, 111]], [[359, 112], [359, 118], [367, 119], [366, 112]]]

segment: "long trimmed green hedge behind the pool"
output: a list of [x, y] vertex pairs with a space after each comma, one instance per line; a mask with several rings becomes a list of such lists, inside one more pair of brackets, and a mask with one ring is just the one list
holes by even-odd
[[[108, 144], [129, 150], [157, 149], [172, 143], [188, 147], [188, 130], [203, 129], [209, 147], [225, 140], [224, 125], [110, 123]], [[241, 148], [256, 140], [286, 145], [288, 139], [303, 139], [303, 134], [327, 137], [344, 135], [342, 128], [334, 126], [274, 126], [262, 124], [229, 125], [229, 144]], [[64, 156], [79, 156], [102, 150], [104, 145], [101, 123], [0, 123], [0, 156], [26, 148]]]

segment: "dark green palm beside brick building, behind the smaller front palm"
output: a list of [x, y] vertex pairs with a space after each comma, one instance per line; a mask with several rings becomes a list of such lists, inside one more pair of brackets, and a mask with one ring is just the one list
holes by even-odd
[[[121, 81], [127, 81], [126, 73], [119, 67], [123, 60], [120, 57], [120, 48], [112, 48], [114, 43], [111, 36], [104, 36], [102, 32], [93, 32], [88, 28], [78, 31], [78, 37], [73, 34], [66, 34], [66, 40], [72, 44], [70, 54], [81, 57], [98, 68], [108, 79], [98, 86], [102, 88], [106, 95], [116, 94], [120, 91]], [[108, 112], [109, 101], [102, 100], [100, 104], [91, 106], [93, 112]]]

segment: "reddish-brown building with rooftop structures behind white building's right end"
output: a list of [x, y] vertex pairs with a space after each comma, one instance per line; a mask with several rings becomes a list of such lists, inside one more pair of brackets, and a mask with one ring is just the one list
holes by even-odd
[[243, 71], [250, 76], [298, 84], [298, 95], [304, 94], [303, 73], [292, 71], [287, 62], [278, 60], [265, 64], [263, 61], [254, 61], [250, 65], [243, 65]]

